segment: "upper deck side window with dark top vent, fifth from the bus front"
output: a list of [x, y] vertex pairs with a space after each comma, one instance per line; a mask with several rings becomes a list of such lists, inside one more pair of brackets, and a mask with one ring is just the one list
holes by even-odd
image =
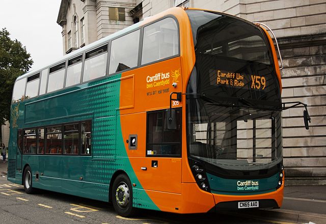
[[47, 85], [48, 93], [56, 90], [61, 90], [63, 88], [65, 67], [66, 63], [63, 62], [59, 65], [50, 68], [49, 80]]

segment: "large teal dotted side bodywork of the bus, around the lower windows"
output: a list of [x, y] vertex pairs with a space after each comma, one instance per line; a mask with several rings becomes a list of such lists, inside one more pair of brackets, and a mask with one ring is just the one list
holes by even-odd
[[[159, 210], [143, 190], [126, 152], [119, 113], [120, 78], [121, 74], [108, 76], [12, 105], [19, 128], [92, 119], [92, 156], [23, 155], [23, 164], [32, 163], [33, 174], [40, 173], [36, 187], [100, 201], [108, 200], [111, 178], [123, 170], [138, 187], [134, 206]], [[10, 147], [15, 152], [17, 129], [12, 132]], [[32, 161], [33, 157], [39, 160]], [[17, 172], [16, 180], [21, 181]]]

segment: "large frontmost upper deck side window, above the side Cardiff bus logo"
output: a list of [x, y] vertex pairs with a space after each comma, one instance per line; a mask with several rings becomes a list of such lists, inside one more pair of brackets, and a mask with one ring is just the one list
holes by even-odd
[[142, 65], [179, 54], [178, 26], [173, 18], [144, 28]]

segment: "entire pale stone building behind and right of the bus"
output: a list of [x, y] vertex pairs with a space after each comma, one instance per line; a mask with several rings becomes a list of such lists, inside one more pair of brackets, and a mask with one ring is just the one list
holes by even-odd
[[[283, 102], [307, 103], [311, 116], [310, 129], [306, 130], [303, 107], [283, 112], [287, 183], [326, 184], [325, 0], [62, 0], [57, 22], [63, 27], [64, 52], [73, 50], [67, 47], [67, 34], [74, 31], [74, 15], [78, 22], [85, 21], [85, 42], [75, 45], [82, 47], [175, 6], [232, 14], [263, 22], [274, 31], [284, 62]], [[124, 9], [124, 21], [112, 20], [112, 7]]]

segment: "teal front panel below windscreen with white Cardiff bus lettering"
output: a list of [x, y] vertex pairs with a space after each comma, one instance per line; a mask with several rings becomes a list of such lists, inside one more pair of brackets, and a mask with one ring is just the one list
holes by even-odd
[[225, 179], [207, 173], [212, 193], [249, 195], [272, 192], [276, 190], [279, 174], [262, 179]]

